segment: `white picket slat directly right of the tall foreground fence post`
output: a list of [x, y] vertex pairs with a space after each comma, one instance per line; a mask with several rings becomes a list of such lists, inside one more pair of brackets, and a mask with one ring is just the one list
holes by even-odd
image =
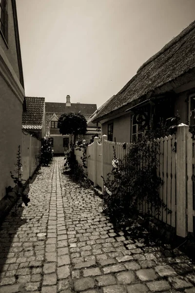
[[188, 132], [187, 135], [187, 209], [188, 209], [188, 232], [193, 233], [193, 152], [192, 152], [192, 133]]

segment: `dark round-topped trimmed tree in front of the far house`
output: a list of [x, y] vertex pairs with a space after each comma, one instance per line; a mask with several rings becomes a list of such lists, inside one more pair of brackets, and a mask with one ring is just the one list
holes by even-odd
[[80, 113], [64, 113], [59, 117], [58, 128], [62, 135], [74, 135], [75, 145], [77, 135], [87, 132], [87, 120]]

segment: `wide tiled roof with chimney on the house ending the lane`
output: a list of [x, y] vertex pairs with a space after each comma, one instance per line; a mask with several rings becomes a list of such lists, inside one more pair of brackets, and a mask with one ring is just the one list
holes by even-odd
[[72, 104], [71, 106], [66, 106], [66, 103], [53, 103], [46, 102], [45, 103], [45, 112], [50, 113], [78, 113], [81, 114], [89, 114], [92, 115], [97, 109], [96, 104]]

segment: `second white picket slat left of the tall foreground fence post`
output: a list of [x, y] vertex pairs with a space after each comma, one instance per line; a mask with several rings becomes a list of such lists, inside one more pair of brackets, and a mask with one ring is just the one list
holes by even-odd
[[[167, 208], [171, 209], [171, 164], [172, 164], [172, 136], [168, 136], [167, 144]], [[171, 214], [167, 213], [167, 224], [171, 225]]]

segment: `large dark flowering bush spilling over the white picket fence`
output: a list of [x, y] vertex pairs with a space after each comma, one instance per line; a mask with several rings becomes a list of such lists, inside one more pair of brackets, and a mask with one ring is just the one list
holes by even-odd
[[161, 208], [171, 213], [159, 198], [163, 182], [157, 174], [159, 144], [154, 138], [169, 135], [173, 129], [175, 131], [175, 126], [159, 125], [155, 130], [147, 131], [131, 143], [123, 160], [117, 159], [114, 149], [113, 169], [103, 180], [106, 190], [104, 212], [115, 224], [124, 224], [137, 215], [143, 200], [148, 205], [149, 215], [154, 209], [158, 215]]

